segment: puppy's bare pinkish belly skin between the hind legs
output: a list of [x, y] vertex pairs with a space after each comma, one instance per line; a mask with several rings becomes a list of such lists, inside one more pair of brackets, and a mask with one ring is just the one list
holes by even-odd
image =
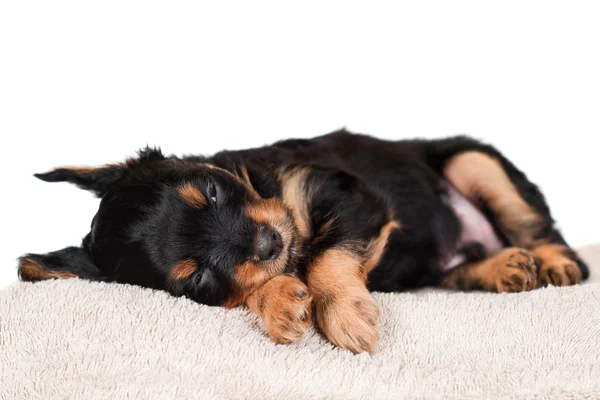
[[460, 249], [469, 244], [479, 243], [486, 254], [491, 254], [503, 247], [502, 241], [494, 231], [492, 224], [485, 215], [452, 185], [447, 185], [448, 205], [460, 221], [461, 235], [454, 250], [442, 255], [442, 268], [448, 271], [466, 261]]

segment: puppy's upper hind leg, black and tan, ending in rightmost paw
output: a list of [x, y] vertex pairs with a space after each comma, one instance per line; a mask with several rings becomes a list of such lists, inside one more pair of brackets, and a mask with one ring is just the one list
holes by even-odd
[[464, 196], [489, 212], [507, 241], [531, 251], [538, 284], [579, 283], [589, 272], [554, 228], [540, 190], [496, 149], [459, 138], [433, 142], [433, 164]]

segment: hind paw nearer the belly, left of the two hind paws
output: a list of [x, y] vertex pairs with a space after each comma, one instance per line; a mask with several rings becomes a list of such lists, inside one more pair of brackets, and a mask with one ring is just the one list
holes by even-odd
[[523, 292], [536, 288], [536, 265], [525, 249], [509, 248], [500, 253], [501, 263], [496, 271], [498, 292]]

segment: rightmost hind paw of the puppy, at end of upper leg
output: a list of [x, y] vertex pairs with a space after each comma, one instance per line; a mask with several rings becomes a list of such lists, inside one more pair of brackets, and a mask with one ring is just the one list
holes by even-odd
[[581, 271], [566, 246], [548, 244], [536, 247], [539, 286], [569, 286], [581, 282]]

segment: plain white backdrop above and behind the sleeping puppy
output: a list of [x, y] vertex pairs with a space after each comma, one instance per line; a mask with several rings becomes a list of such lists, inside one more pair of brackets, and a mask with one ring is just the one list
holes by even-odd
[[468, 133], [599, 241], [598, 2], [0, 3], [0, 286], [77, 245], [98, 201], [31, 174], [146, 144], [212, 153], [346, 126]]

